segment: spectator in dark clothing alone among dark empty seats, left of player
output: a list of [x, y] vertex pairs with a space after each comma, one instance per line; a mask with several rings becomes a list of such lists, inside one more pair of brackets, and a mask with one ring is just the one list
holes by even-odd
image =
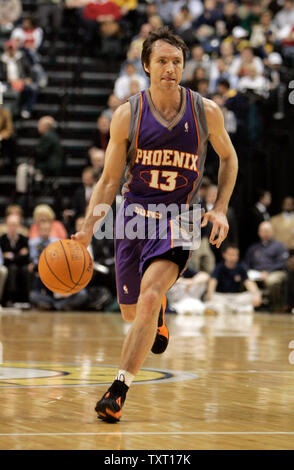
[[55, 131], [56, 121], [43, 116], [38, 121], [40, 139], [36, 147], [35, 167], [43, 176], [59, 176], [63, 166], [63, 150]]

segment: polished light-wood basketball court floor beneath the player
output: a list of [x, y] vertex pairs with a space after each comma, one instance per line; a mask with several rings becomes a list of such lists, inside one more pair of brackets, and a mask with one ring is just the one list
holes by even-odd
[[167, 351], [108, 424], [94, 406], [117, 371], [120, 315], [0, 313], [0, 449], [293, 449], [294, 316], [167, 321]]

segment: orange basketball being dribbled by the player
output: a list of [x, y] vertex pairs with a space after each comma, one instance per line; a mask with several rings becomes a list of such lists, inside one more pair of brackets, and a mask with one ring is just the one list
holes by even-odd
[[75, 240], [50, 243], [39, 258], [41, 281], [57, 294], [75, 294], [86, 287], [93, 274], [88, 250]]

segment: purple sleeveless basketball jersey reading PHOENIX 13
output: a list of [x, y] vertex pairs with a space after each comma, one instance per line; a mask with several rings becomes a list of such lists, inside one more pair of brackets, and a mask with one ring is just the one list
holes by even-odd
[[181, 88], [182, 103], [172, 122], [156, 111], [149, 90], [130, 99], [127, 182], [128, 203], [176, 203], [187, 207], [197, 201], [207, 146], [202, 98]]

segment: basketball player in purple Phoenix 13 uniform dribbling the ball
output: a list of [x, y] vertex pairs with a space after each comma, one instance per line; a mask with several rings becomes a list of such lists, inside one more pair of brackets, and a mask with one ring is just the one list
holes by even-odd
[[[186, 51], [182, 39], [168, 28], [150, 33], [145, 40], [142, 64], [150, 88], [131, 97], [113, 115], [103, 174], [92, 193], [83, 227], [73, 235], [85, 246], [99, 220], [93, 215], [94, 208], [112, 204], [126, 164], [129, 179], [123, 188], [117, 232], [132, 219], [126, 214], [131, 203], [143, 206], [139, 214], [145, 224], [150, 216], [160, 217], [148, 210], [151, 203], [185, 204], [189, 209], [198, 202], [208, 139], [220, 158], [218, 197], [201, 225], [212, 223], [210, 243], [217, 248], [226, 238], [237, 157], [217, 105], [180, 86]], [[165, 238], [158, 233], [155, 239], [145, 240], [116, 236], [118, 299], [124, 320], [133, 323], [122, 347], [117, 377], [95, 408], [104, 421], [120, 419], [129, 386], [150, 350], [158, 354], [167, 347], [165, 293], [190, 255], [183, 241], [173, 238], [173, 223], [168, 220]]]

